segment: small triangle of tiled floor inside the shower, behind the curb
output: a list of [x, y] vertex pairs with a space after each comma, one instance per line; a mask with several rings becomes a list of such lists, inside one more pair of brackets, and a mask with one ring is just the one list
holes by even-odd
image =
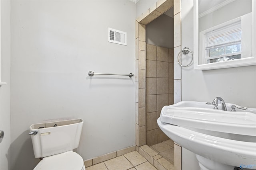
[[168, 160], [168, 162], [174, 164], [174, 141], [169, 139], [156, 145], [152, 145], [150, 148]]

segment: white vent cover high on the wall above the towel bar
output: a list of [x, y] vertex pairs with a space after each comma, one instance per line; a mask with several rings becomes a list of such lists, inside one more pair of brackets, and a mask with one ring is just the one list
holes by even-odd
[[108, 42], [127, 45], [127, 33], [108, 28]]

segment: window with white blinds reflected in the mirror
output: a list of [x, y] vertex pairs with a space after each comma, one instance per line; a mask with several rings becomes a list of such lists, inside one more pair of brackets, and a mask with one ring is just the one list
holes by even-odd
[[202, 31], [204, 63], [217, 63], [241, 58], [241, 19]]

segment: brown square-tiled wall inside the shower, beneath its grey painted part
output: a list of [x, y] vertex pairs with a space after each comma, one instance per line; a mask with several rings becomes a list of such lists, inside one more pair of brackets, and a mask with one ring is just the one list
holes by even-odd
[[146, 44], [147, 145], [166, 139], [163, 133], [157, 133], [159, 127], [156, 120], [162, 107], [173, 102], [173, 53], [173, 49]]

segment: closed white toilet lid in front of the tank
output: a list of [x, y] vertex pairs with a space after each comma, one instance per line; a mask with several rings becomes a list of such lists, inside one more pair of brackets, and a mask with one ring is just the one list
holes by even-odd
[[82, 157], [71, 150], [43, 158], [34, 170], [85, 170], [85, 167]]

